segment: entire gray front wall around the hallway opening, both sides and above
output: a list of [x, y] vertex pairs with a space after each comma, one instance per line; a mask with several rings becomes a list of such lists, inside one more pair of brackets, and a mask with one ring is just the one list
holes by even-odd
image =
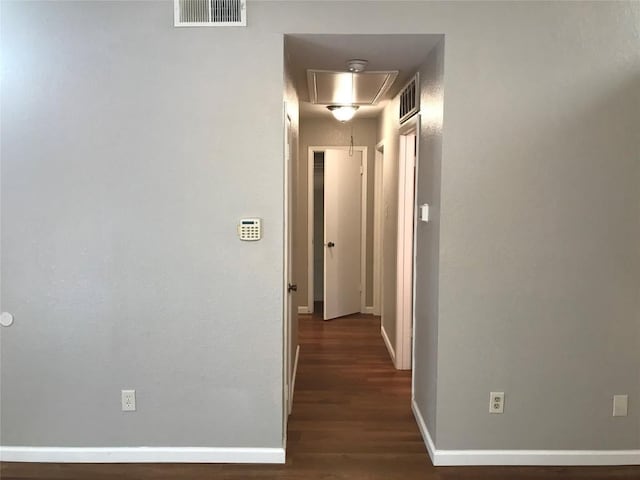
[[282, 33], [411, 31], [446, 36], [438, 448], [640, 448], [640, 4], [249, 8], [2, 2], [2, 443], [281, 444]]

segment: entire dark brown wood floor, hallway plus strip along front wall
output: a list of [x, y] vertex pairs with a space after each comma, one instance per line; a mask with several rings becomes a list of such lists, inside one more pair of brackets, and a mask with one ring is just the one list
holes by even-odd
[[378, 318], [302, 316], [300, 344], [285, 465], [4, 463], [0, 478], [640, 480], [640, 467], [434, 468], [411, 413], [410, 373], [394, 370]]

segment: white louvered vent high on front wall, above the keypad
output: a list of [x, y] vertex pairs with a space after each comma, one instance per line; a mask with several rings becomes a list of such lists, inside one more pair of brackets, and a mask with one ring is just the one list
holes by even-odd
[[244, 27], [246, 0], [173, 0], [176, 27]]

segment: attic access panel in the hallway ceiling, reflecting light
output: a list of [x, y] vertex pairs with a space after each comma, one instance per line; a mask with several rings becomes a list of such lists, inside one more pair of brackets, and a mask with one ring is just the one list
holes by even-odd
[[397, 71], [307, 70], [309, 101], [319, 105], [375, 105], [389, 91], [397, 76]]

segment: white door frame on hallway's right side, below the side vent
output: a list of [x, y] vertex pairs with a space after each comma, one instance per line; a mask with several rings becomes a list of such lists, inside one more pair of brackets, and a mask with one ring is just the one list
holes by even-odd
[[[398, 246], [396, 277], [396, 357], [398, 370], [413, 366], [415, 312], [416, 192], [420, 158], [420, 115], [400, 126], [398, 149]], [[414, 155], [407, 139], [415, 136]]]

